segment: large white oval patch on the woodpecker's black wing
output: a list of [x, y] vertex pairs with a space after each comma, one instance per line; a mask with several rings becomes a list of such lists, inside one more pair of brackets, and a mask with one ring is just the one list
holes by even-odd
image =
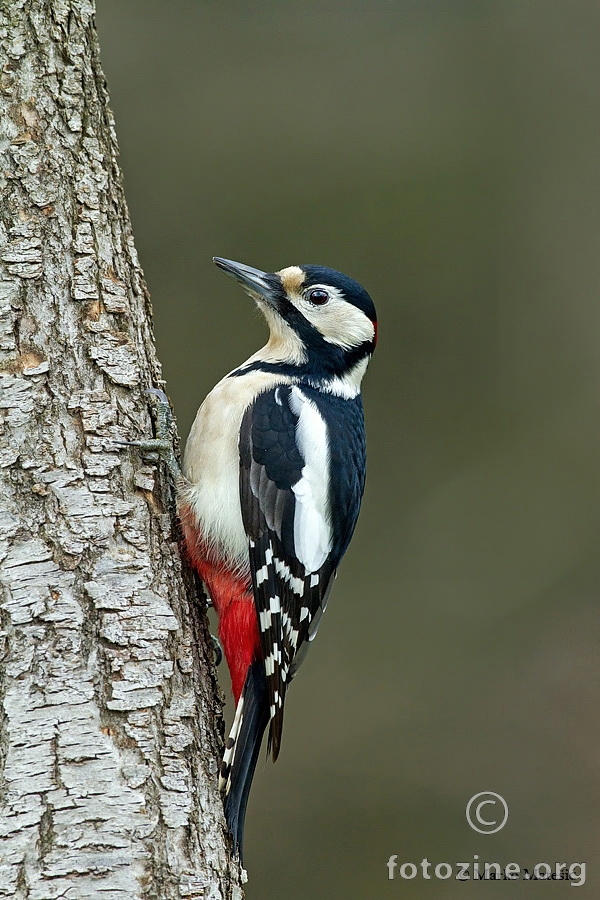
[[327, 426], [315, 404], [299, 387], [290, 391], [290, 408], [298, 416], [296, 440], [305, 460], [296, 497], [294, 549], [307, 572], [320, 569], [331, 550], [329, 524], [329, 447]]

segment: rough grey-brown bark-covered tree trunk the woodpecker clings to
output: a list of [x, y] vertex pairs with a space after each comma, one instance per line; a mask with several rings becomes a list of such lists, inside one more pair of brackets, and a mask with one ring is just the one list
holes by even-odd
[[92, 0], [0, 0], [0, 897], [241, 898]]

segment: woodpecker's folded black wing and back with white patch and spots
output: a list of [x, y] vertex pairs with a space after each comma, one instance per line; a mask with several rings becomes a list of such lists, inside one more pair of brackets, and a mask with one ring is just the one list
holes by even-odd
[[287, 686], [316, 634], [356, 524], [364, 460], [360, 398], [281, 385], [260, 394], [244, 415], [240, 500], [274, 759]]

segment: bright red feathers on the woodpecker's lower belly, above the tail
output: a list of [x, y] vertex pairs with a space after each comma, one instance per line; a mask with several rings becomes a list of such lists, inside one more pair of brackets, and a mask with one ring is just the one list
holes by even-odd
[[209, 551], [190, 507], [179, 510], [190, 562], [206, 585], [219, 617], [219, 638], [231, 675], [237, 704], [250, 664], [260, 656], [256, 607], [249, 577], [232, 570], [227, 562]]

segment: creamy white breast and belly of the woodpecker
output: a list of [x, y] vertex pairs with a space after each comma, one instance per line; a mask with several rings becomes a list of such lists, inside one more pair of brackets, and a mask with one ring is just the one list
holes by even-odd
[[248, 372], [224, 378], [196, 415], [183, 457], [190, 504], [205, 539], [219, 556], [248, 568], [248, 539], [239, 490], [239, 433], [244, 412], [257, 394], [287, 383], [280, 375]]

